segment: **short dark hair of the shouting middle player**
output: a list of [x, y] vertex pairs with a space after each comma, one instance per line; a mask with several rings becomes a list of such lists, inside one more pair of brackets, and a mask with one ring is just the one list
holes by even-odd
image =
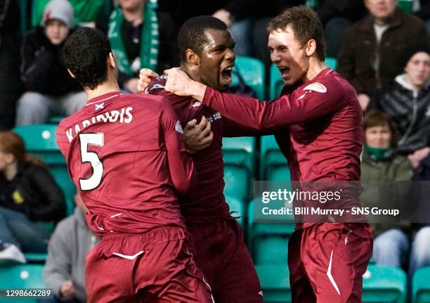
[[191, 49], [198, 56], [202, 55], [202, 50], [207, 44], [205, 30], [228, 30], [226, 23], [211, 15], [199, 15], [188, 19], [179, 30], [178, 45], [181, 52], [181, 61], [185, 62], [185, 51]]

